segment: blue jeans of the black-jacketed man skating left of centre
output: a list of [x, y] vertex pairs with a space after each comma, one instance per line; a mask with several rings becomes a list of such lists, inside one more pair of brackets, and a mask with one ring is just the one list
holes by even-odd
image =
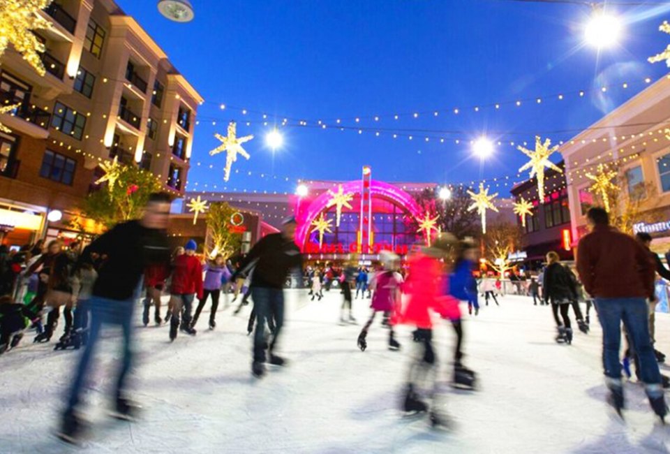
[[284, 324], [284, 291], [281, 288], [251, 287], [251, 298], [256, 311], [256, 331], [253, 335], [253, 360], [265, 362], [265, 349], [268, 349], [265, 338], [266, 320], [274, 318], [274, 336], [269, 344], [272, 354]]

